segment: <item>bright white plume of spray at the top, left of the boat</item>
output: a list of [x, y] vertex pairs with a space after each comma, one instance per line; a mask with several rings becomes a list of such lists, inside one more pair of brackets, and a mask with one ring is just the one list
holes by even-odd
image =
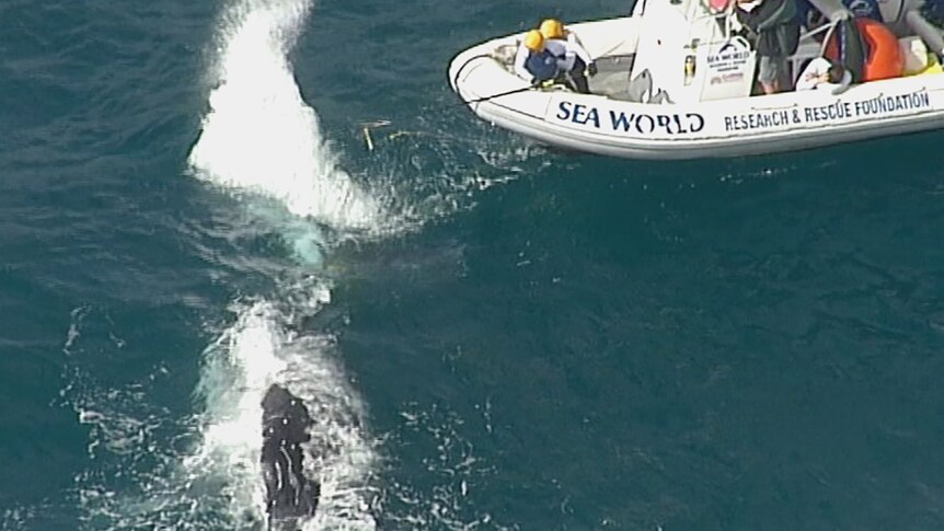
[[228, 12], [219, 85], [188, 162], [200, 178], [273, 197], [297, 216], [369, 230], [382, 208], [337, 168], [288, 61], [310, 7], [246, 0]]

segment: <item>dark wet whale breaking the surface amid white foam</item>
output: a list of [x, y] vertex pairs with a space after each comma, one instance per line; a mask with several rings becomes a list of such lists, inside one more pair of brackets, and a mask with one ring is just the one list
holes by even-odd
[[314, 424], [298, 396], [274, 383], [262, 400], [262, 464], [266, 526], [269, 531], [298, 531], [314, 516], [321, 484], [304, 472], [304, 449]]

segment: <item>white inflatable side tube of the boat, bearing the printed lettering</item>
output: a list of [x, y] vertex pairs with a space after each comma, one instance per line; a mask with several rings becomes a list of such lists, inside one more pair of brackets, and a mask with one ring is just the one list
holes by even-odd
[[[482, 119], [550, 146], [632, 159], [684, 160], [775, 153], [944, 127], [944, 74], [829, 90], [710, 102], [646, 104], [562, 89], [527, 90], [495, 50], [516, 36], [459, 54], [456, 93]], [[626, 70], [629, 77], [629, 70]], [[523, 90], [507, 95], [495, 94]], [[483, 100], [484, 99], [484, 100]]]

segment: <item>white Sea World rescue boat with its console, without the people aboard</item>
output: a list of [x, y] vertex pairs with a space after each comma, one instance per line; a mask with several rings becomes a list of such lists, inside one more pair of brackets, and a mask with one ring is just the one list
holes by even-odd
[[[937, 53], [944, 42], [940, 30], [901, 2], [893, 14], [899, 27], [887, 25], [906, 37], [902, 49], [917, 42], [925, 56], [907, 58], [912, 74], [854, 84], [838, 94], [772, 95], [751, 95], [755, 51], [733, 31], [733, 8], [716, 12], [703, 2], [638, 0], [632, 16], [567, 25], [596, 60], [590, 94], [530, 89], [513, 68], [522, 34], [460, 53], [449, 81], [493, 125], [564, 149], [634, 159], [772, 153], [944, 126], [944, 73], [921, 41]], [[832, 32], [850, 15], [839, 0], [815, 3], [832, 21], [821, 32]], [[916, 15], [918, 24], [909, 25]], [[817, 39], [815, 33], [803, 35], [791, 57], [794, 78], [807, 60], [822, 55], [822, 35]], [[643, 91], [641, 76], [647, 78]], [[653, 97], [659, 92], [668, 102]], [[651, 100], [664, 103], [646, 103]]]

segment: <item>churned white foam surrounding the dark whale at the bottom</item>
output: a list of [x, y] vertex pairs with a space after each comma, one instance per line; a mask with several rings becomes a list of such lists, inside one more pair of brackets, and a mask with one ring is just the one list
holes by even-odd
[[[326, 303], [318, 295], [306, 313]], [[268, 301], [238, 308], [237, 322], [206, 356], [199, 394], [206, 401], [203, 443], [184, 462], [191, 471], [226, 478], [230, 515], [263, 518], [258, 466], [262, 397], [273, 382], [286, 385], [309, 406], [315, 422], [306, 465], [322, 484], [322, 497], [308, 529], [373, 529], [373, 493], [367, 486], [376, 461], [362, 432], [364, 406], [334, 363], [330, 336], [293, 333], [290, 318]]]

